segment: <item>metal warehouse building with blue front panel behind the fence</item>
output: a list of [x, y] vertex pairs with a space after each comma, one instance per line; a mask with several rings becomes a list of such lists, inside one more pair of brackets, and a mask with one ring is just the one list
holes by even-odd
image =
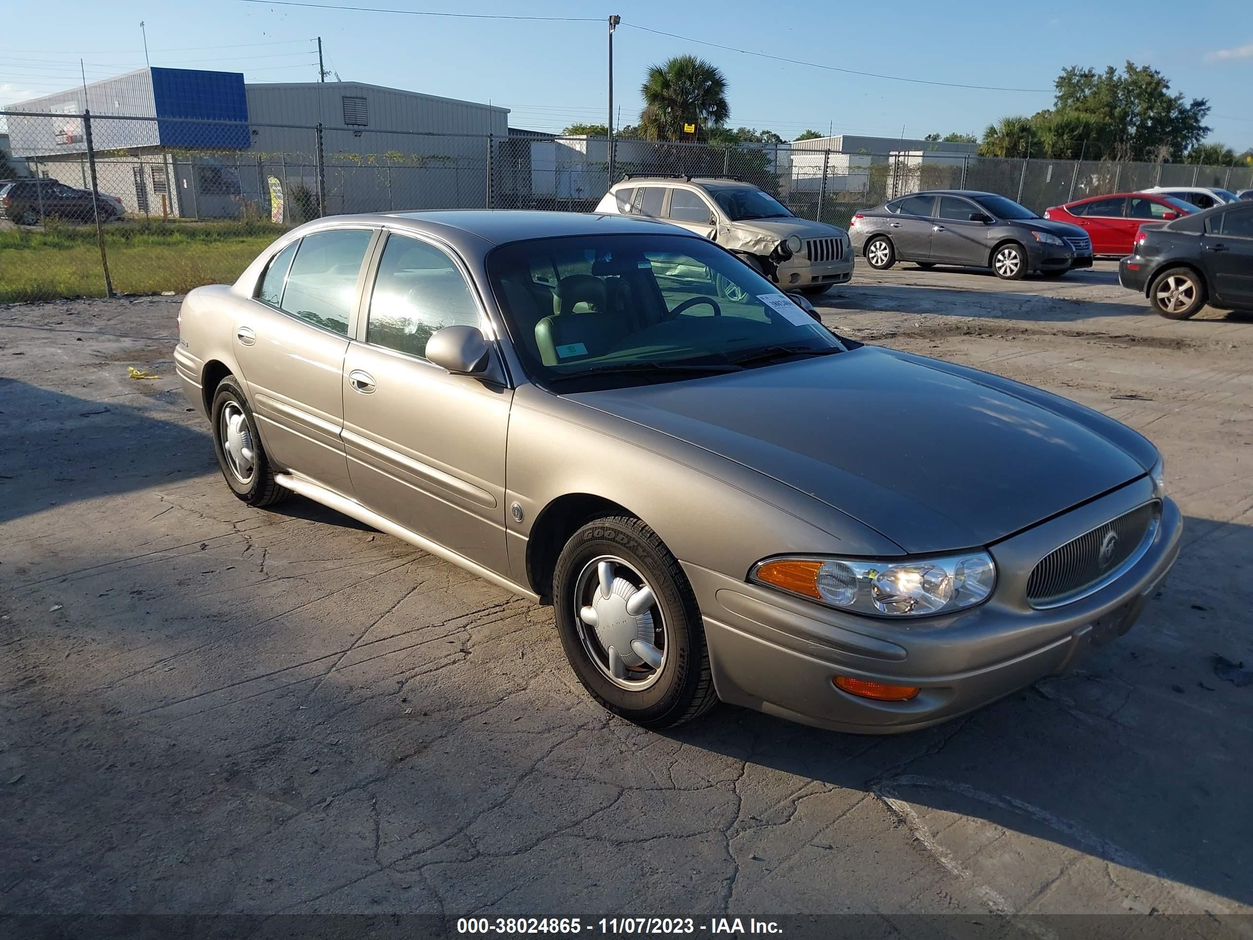
[[320, 192], [332, 213], [474, 204], [490, 142], [509, 133], [506, 108], [474, 102], [152, 68], [10, 105], [40, 114], [9, 117], [14, 157], [88, 185], [84, 104], [100, 191], [132, 213], [184, 218], [268, 216], [276, 183], [297, 221]]

